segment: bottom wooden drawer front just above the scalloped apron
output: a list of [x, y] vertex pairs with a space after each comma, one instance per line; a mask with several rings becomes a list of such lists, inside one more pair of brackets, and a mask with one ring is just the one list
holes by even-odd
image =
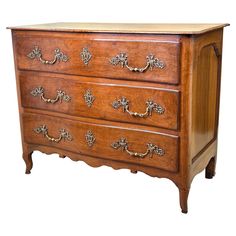
[[177, 171], [178, 137], [147, 130], [23, 114], [24, 140], [117, 161]]

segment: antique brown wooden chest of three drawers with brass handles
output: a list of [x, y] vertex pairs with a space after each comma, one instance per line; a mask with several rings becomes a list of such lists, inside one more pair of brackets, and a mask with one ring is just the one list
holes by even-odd
[[79, 24], [11, 27], [22, 133], [32, 153], [172, 180], [215, 174], [223, 27]]

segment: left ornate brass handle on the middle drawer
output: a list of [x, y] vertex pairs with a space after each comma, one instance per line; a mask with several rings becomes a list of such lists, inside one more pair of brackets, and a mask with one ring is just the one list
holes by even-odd
[[66, 93], [62, 90], [57, 90], [57, 96], [56, 98], [50, 99], [50, 98], [45, 98], [44, 97], [44, 88], [43, 87], [37, 87], [34, 90], [31, 91], [31, 95], [36, 97], [36, 96], [40, 96], [40, 98], [42, 99], [42, 101], [46, 102], [46, 103], [56, 103], [56, 102], [69, 102], [71, 100], [71, 97], [69, 95], [66, 95]]

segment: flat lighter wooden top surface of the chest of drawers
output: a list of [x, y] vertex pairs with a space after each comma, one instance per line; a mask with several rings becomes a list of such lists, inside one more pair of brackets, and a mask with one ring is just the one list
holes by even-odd
[[49, 23], [8, 27], [14, 30], [100, 32], [100, 33], [143, 33], [143, 34], [202, 34], [229, 24], [128, 24], [128, 23]]

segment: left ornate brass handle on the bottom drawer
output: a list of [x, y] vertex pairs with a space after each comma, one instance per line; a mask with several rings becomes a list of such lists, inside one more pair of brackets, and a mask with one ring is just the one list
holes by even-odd
[[59, 130], [59, 138], [53, 138], [53, 137], [50, 137], [49, 134], [48, 134], [48, 128], [46, 125], [41, 125], [37, 128], [34, 129], [34, 131], [37, 133], [37, 134], [40, 134], [42, 133], [43, 136], [45, 138], [47, 138], [49, 141], [51, 142], [55, 142], [55, 143], [59, 143], [61, 140], [64, 140], [64, 141], [72, 141], [72, 136], [69, 134], [68, 131], [66, 131], [65, 129], [60, 129]]

